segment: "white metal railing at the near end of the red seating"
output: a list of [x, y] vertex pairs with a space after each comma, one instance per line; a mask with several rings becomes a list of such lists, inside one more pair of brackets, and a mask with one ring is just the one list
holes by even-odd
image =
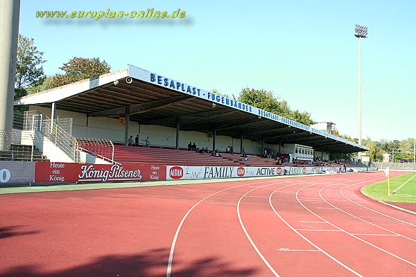
[[109, 139], [76, 138], [76, 149], [109, 163], [121, 164], [114, 161], [114, 144]]

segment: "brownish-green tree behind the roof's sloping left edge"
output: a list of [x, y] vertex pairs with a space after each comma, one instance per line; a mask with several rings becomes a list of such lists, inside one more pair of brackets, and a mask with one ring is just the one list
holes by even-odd
[[53, 76], [52, 87], [60, 87], [71, 82], [92, 78], [110, 72], [110, 65], [105, 61], [100, 61], [98, 57], [92, 59], [83, 57], [73, 57], [69, 62], [64, 63], [60, 69], [63, 74]]

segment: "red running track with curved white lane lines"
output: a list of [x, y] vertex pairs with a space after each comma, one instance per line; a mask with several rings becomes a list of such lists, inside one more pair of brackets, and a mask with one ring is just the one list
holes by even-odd
[[0, 195], [0, 276], [416, 276], [416, 216], [359, 192], [383, 178]]

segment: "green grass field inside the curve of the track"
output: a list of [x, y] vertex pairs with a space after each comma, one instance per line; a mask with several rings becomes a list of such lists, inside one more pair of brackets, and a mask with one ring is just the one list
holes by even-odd
[[[409, 179], [410, 181], [408, 181]], [[408, 181], [408, 183], [399, 188], [399, 186], [404, 184], [406, 181]], [[365, 195], [383, 202], [416, 203], [416, 173], [408, 173], [391, 178], [390, 191], [393, 192], [397, 188], [399, 188], [399, 190], [388, 196], [388, 184], [387, 180], [385, 180], [365, 186], [361, 189], [361, 191]]]

